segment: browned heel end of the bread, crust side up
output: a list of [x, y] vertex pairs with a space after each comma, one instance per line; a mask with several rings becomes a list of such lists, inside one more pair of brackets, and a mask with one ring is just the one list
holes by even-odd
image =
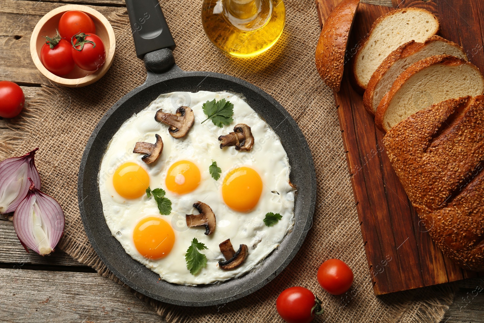
[[360, 0], [343, 0], [326, 19], [318, 46], [316, 68], [330, 88], [338, 92], [343, 78], [346, 45]]

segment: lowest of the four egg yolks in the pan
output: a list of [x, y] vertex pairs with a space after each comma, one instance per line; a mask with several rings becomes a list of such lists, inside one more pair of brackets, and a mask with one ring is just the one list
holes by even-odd
[[166, 257], [175, 243], [175, 233], [164, 219], [150, 216], [138, 222], [133, 231], [136, 249], [145, 258]]

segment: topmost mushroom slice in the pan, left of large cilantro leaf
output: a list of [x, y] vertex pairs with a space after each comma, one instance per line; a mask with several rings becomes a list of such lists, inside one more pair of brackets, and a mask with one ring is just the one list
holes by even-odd
[[171, 127], [168, 128], [171, 137], [181, 138], [188, 133], [188, 130], [190, 130], [195, 122], [195, 114], [193, 113], [193, 110], [188, 107], [178, 108], [175, 114], [163, 112], [162, 109], [159, 109], [156, 111], [154, 120], [171, 125]]

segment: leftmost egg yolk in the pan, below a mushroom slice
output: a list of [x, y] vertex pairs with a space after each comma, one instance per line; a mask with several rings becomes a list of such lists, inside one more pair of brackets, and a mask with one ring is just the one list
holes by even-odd
[[150, 176], [138, 164], [128, 162], [114, 172], [113, 185], [123, 198], [136, 199], [145, 194], [150, 186]]

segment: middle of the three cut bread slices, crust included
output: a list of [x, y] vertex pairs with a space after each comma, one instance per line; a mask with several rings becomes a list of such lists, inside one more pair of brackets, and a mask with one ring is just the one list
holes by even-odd
[[363, 94], [366, 110], [375, 115], [378, 104], [390, 91], [395, 79], [411, 64], [435, 55], [450, 55], [469, 61], [462, 47], [438, 35], [430, 37], [424, 43], [409, 41], [388, 55], [371, 76]]

